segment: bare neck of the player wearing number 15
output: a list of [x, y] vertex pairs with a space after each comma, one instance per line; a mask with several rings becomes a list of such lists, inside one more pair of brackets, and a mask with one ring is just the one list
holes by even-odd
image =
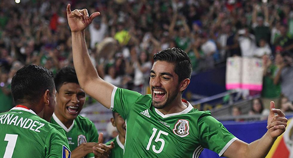
[[172, 114], [172, 113], [180, 113], [181, 111], [185, 110], [186, 108], [187, 108], [187, 105], [185, 105], [182, 102], [182, 98], [177, 97], [177, 98], [175, 98], [175, 100], [171, 104], [167, 105], [163, 109], [158, 109], [158, 110], [161, 113], [163, 113], [164, 115], [167, 115], [167, 114]]

